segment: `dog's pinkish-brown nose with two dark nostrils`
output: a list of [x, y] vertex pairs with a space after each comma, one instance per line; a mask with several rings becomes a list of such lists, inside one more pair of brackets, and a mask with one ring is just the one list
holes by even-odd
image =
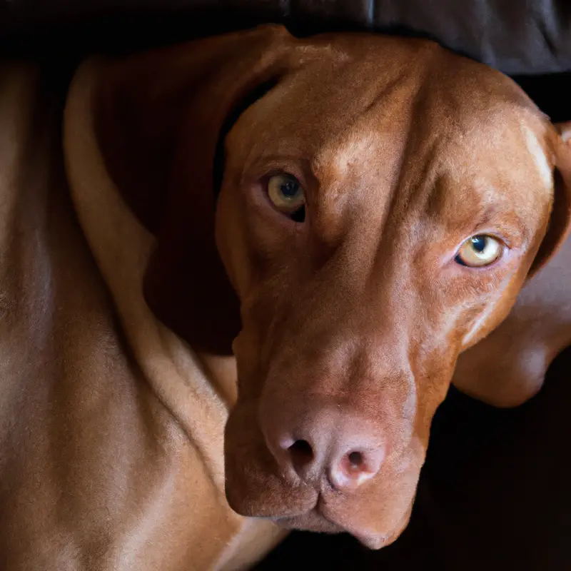
[[379, 473], [385, 458], [376, 427], [353, 416], [314, 415], [291, 430], [271, 424], [266, 441], [278, 464], [310, 485], [326, 480], [336, 490], [355, 490]]

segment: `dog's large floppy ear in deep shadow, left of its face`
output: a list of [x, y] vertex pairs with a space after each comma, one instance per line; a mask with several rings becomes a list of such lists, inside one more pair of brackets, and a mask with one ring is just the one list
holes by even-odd
[[285, 73], [294, 44], [281, 26], [263, 26], [130, 56], [101, 75], [94, 113], [103, 158], [157, 237], [145, 298], [201, 350], [230, 353], [240, 328], [214, 240], [221, 141]]

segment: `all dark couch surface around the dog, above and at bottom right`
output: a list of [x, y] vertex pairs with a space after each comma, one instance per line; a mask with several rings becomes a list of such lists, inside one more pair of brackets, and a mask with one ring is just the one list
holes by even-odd
[[[571, 119], [569, 0], [2, 0], [0, 49], [79, 59], [262, 21], [298, 34], [432, 36], [516, 74], [555, 121]], [[571, 349], [520, 408], [496, 410], [451, 389], [412, 521], [394, 545], [371, 552], [348, 536], [294, 533], [259, 569], [571, 570], [570, 410]]]

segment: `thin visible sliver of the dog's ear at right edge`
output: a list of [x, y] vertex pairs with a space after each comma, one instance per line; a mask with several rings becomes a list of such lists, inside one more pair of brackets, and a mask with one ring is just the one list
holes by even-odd
[[555, 192], [547, 233], [535, 256], [528, 278], [549, 261], [571, 231], [571, 121], [555, 125], [552, 149], [555, 153], [553, 173]]

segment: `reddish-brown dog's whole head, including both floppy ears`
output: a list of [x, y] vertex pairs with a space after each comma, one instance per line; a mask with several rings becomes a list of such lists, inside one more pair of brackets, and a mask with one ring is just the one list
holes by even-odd
[[110, 64], [96, 113], [149, 305], [236, 355], [230, 505], [387, 545], [458, 355], [567, 233], [562, 138], [435, 44], [276, 26]]

